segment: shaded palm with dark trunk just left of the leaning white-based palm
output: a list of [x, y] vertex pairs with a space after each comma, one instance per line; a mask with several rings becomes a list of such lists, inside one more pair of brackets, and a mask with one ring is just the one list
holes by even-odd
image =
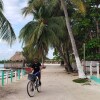
[[59, 52], [60, 57], [64, 60], [66, 71], [73, 72], [69, 57], [69, 51], [71, 52], [72, 50], [69, 48], [70, 41], [68, 35], [66, 34], [66, 29], [65, 33], [56, 34], [56, 36], [58, 38], [58, 41], [52, 41], [53, 48], [55, 48], [56, 51]]

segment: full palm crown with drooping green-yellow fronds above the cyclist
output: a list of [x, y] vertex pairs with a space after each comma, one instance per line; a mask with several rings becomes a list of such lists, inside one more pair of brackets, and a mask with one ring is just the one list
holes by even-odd
[[[21, 29], [19, 36], [23, 43], [34, 48], [40, 57], [47, 54], [50, 42], [57, 40], [55, 33], [63, 33], [61, 30], [63, 25], [60, 24], [64, 18], [52, 17], [51, 13], [48, 12], [49, 6], [45, 6], [43, 3], [38, 7], [35, 6], [36, 8], [34, 7], [31, 12], [34, 19]], [[28, 9], [24, 8], [25, 15], [28, 14]]]

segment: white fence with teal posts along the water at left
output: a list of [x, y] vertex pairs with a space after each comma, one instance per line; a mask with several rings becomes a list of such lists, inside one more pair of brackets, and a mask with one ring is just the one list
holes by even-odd
[[1, 85], [4, 86], [8, 84], [8, 80], [12, 83], [13, 81], [20, 80], [25, 74], [24, 69], [0, 69], [1, 76]]

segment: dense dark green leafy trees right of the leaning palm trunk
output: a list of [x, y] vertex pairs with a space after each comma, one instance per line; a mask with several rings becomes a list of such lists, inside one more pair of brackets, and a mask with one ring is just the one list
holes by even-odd
[[[82, 16], [78, 13], [74, 13], [73, 31], [75, 34], [75, 40], [77, 48], [79, 50], [80, 57], [83, 58], [83, 44], [86, 48], [86, 60], [99, 60], [100, 59], [100, 47], [99, 44], [99, 21], [100, 15], [100, 1], [98, 0], [86, 0], [86, 15]], [[95, 46], [94, 46], [95, 45]]]

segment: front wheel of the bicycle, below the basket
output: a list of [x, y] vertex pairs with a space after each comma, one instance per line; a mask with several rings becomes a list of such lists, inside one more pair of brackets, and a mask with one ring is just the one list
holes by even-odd
[[34, 96], [34, 91], [35, 91], [35, 84], [32, 81], [29, 81], [27, 84], [27, 93], [30, 97]]

